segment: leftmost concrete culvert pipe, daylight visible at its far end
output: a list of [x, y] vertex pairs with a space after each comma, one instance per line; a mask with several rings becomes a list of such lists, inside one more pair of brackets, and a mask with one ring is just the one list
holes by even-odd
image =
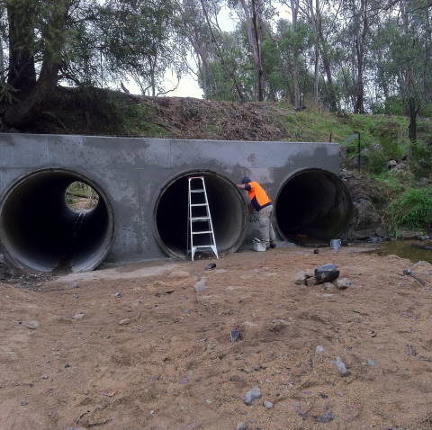
[[[66, 199], [70, 184], [92, 187], [93, 209], [74, 209]], [[14, 264], [41, 272], [92, 270], [111, 248], [112, 208], [89, 179], [50, 169], [23, 178], [0, 206], [0, 237]]]

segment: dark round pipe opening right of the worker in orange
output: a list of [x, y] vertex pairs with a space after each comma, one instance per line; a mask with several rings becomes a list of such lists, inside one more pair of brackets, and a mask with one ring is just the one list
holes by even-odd
[[300, 242], [341, 237], [352, 213], [345, 184], [337, 175], [320, 169], [303, 170], [288, 178], [275, 202], [279, 231]]

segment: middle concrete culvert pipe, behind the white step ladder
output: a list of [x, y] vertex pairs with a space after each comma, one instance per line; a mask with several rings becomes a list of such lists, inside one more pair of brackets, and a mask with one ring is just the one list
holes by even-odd
[[[187, 254], [188, 177], [203, 176], [210, 205], [218, 252], [235, 252], [247, 228], [247, 206], [235, 184], [211, 172], [190, 172], [166, 185], [155, 208], [156, 237], [167, 255]], [[195, 185], [196, 186], [196, 185]], [[197, 196], [199, 198], [199, 196]], [[204, 215], [194, 213], [196, 216]], [[197, 225], [197, 229], [206, 229]], [[196, 245], [209, 243], [207, 235], [196, 235]]]

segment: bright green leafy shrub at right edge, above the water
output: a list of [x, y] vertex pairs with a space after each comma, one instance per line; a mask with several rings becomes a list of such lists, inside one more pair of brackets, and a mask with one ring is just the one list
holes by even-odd
[[398, 236], [402, 228], [427, 230], [432, 226], [432, 187], [410, 188], [388, 206], [386, 223]]

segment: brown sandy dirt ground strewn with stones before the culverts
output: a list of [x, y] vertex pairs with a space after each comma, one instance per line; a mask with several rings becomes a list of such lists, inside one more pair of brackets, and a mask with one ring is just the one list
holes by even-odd
[[[0, 284], [0, 428], [432, 429], [432, 266], [419, 282], [402, 274], [409, 260], [359, 251], [276, 248], [211, 271], [159, 262]], [[354, 285], [294, 285], [330, 262]], [[262, 398], [245, 405], [256, 387]]]

